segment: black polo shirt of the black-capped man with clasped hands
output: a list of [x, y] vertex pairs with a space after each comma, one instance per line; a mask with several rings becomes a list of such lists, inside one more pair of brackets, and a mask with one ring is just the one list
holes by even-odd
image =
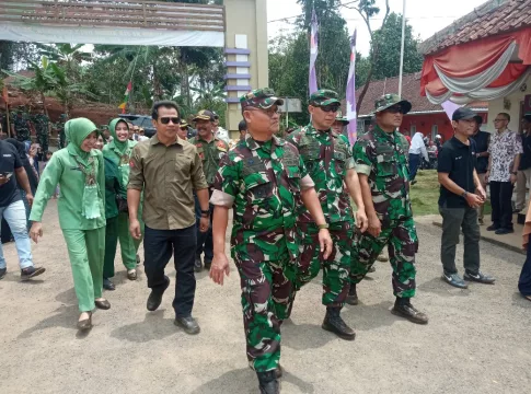
[[[445, 142], [438, 157], [437, 171], [448, 174], [449, 178], [469, 193], [474, 193], [474, 169], [476, 166], [476, 144], [471, 138], [469, 144], [455, 137]], [[445, 208], [464, 208], [466, 200], [440, 186], [439, 206]]]

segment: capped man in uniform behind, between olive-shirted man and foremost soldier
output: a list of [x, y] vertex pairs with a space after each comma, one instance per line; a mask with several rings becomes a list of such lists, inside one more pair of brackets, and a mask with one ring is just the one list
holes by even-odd
[[[229, 144], [213, 135], [215, 115], [210, 111], [199, 111], [194, 117], [194, 121], [196, 123], [197, 136], [191, 138], [188, 142], [197, 148], [197, 153], [203, 161], [203, 172], [207, 178], [208, 190], [211, 196], [213, 178], [219, 169], [219, 161], [227, 154]], [[210, 269], [212, 263], [212, 228], [210, 225], [207, 232], [199, 231], [200, 206], [197, 198], [195, 198], [195, 204], [197, 218], [197, 248], [194, 269], [196, 273], [200, 273], [203, 270], [203, 253], [205, 253], [205, 269]], [[210, 224], [212, 220], [212, 210], [213, 206], [210, 205]]]

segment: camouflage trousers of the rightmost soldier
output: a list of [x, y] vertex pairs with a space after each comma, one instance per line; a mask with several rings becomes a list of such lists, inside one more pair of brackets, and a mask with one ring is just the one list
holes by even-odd
[[388, 245], [393, 268], [393, 293], [400, 298], [415, 296], [415, 253], [418, 251], [417, 230], [413, 218], [382, 223], [382, 232], [374, 237], [368, 232], [358, 235], [353, 250], [350, 280], [359, 283], [378, 255]]

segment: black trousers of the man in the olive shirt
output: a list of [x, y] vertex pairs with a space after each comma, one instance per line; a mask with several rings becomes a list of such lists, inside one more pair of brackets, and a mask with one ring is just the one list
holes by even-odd
[[196, 225], [181, 230], [154, 230], [146, 225], [143, 235], [143, 251], [148, 287], [152, 291], [162, 292], [168, 277], [164, 275], [172, 253], [175, 270], [175, 299], [173, 309], [175, 316], [192, 315], [196, 290], [194, 262], [196, 251]]

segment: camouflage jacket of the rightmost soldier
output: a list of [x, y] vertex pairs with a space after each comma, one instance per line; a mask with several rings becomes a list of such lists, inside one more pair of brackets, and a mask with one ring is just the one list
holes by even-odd
[[380, 220], [411, 218], [409, 143], [397, 131], [380, 127], [361, 136], [354, 146], [356, 171], [369, 177], [372, 202]]

